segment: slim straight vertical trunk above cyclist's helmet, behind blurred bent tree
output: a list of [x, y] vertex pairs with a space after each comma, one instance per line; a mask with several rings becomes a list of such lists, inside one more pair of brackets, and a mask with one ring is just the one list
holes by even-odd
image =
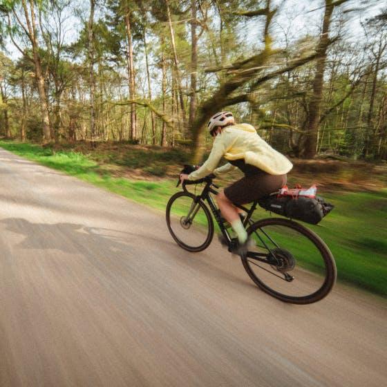
[[[189, 129], [196, 113], [196, 75], [198, 70], [198, 37], [196, 36], [196, 0], [191, 0], [191, 91], [189, 100]], [[191, 131], [190, 131], [191, 133]]]

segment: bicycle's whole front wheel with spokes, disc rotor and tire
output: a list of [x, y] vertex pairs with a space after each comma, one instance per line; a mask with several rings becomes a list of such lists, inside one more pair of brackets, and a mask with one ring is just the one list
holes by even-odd
[[214, 222], [202, 200], [189, 192], [175, 193], [167, 204], [167, 226], [176, 243], [189, 252], [206, 249], [214, 237]]

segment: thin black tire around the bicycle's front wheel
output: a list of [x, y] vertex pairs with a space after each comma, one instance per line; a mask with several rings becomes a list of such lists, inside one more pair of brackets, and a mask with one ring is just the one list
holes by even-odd
[[207, 247], [210, 245], [212, 238], [214, 238], [214, 221], [212, 220], [212, 216], [209, 212], [208, 207], [205, 205], [202, 200], [198, 202], [198, 205], [203, 210], [206, 218], [207, 218], [207, 237], [205, 238], [204, 243], [198, 245], [198, 246], [192, 246], [187, 243], [185, 243], [183, 240], [181, 240], [175, 232], [173, 232], [173, 227], [171, 226], [171, 209], [173, 208], [173, 203], [176, 202], [179, 198], [187, 197], [190, 199], [196, 198], [195, 195], [193, 195], [190, 192], [180, 191], [175, 193], [168, 201], [167, 204], [167, 210], [166, 210], [166, 220], [167, 220], [167, 227], [169, 229], [169, 232], [171, 233], [172, 238], [176, 241], [176, 243], [182, 247], [183, 249], [187, 250], [188, 252], [202, 252], [202, 250], [207, 249]]

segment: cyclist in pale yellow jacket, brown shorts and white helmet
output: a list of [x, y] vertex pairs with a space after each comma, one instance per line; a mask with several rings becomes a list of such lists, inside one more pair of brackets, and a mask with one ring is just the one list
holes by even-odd
[[[238, 252], [246, 249], [247, 232], [235, 205], [254, 202], [285, 185], [287, 172], [293, 165], [284, 155], [270, 147], [250, 124], [236, 124], [229, 111], [216, 113], [207, 125], [214, 137], [211, 153], [202, 166], [180, 180], [198, 180], [240, 169], [245, 177], [220, 191], [216, 202], [223, 217], [232, 225], [238, 238]], [[216, 168], [221, 158], [229, 162]]]

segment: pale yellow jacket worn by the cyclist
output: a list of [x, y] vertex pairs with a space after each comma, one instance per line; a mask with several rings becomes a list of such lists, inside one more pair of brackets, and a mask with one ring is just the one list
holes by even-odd
[[246, 164], [254, 165], [270, 175], [283, 175], [293, 167], [283, 154], [270, 147], [256, 133], [254, 126], [236, 124], [227, 126], [216, 136], [207, 161], [198, 170], [189, 174], [189, 180], [198, 180], [210, 173], [220, 175], [236, 168], [227, 162], [223, 167], [216, 169], [222, 157], [226, 160], [243, 159]]

